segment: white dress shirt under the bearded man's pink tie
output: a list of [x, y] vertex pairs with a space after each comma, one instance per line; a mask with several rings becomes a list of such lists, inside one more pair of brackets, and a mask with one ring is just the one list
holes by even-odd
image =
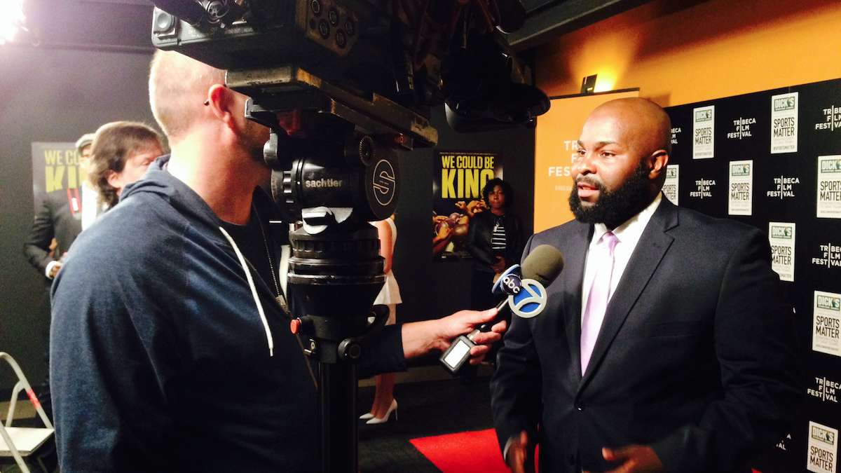
[[[648, 207], [634, 215], [625, 223], [613, 229], [613, 234], [619, 240], [616, 247], [613, 249], [613, 276], [611, 277], [611, 288], [608, 292], [608, 300], [613, 296], [616, 290], [616, 285], [625, 272], [625, 267], [631, 259], [634, 248], [637, 247], [639, 238], [643, 236], [645, 227], [648, 226], [648, 221], [654, 215], [654, 211], [663, 200], [663, 194], [657, 194]], [[587, 254], [593, 251], [593, 248], [599, 243], [601, 237], [607, 233], [608, 228], [603, 223], [597, 223], [594, 226], [593, 239], [590, 240], [590, 247], [587, 248]], [[595, 266], [598, 264], [597, 258], [587, 258], [587, 263], [584, 265], [584, 289], [581, 294], [581, 313], [587, 310], [587, 298], [590, 297], [590, 287], [593, 285], [593, 278], [595, 278]]]

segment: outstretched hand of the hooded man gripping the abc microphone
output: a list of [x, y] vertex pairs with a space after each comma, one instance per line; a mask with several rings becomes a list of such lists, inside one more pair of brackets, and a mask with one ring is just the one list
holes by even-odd
[[[402, 327], [403, 353], [407, 359], [421, 356], [437, 349], [449, 348], [452, 339], [473, 332], [484, 322], [494, 320], [496, 309], [487, 311], [458, 311], [452, 316], [440, 319], [406, 323]], [[490, 332], [480, 332], [473, 340], [476, 346], [470, 349], [470, 364], [479, 364], [488, 353], [489, 345], [500, 341], [507, 325], [505, 321], [491, 327]]]

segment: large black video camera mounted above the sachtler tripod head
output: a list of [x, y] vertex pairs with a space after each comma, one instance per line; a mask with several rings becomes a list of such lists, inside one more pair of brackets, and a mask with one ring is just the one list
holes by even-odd
[[[420, 117], [421, 127], [428, 126], [423, 119], [431, 107], [442, 103], [458, 131], [534, 125], [549, 108], [546, 95], [529, 83], [529, 67], [505, 50], [499, 34], [522, 24], [521, 0], [153, 3], [152, 42], [160, 49], [228, 71], [294, 66], [361, 100], [383, 100], [381, 114], [406, 109]], [[284, 88], [244, 92], [255, 97]], [[399, 130], [416, 138], [412, 131]]]

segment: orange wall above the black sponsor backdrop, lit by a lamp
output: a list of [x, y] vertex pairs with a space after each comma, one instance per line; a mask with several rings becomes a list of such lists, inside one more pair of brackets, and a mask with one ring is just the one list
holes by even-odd
[[[676, 7], [674, 3], [689, 7]], [[543, 45], [549, 95], [640, 88], [662, 106], [841, 77], [838, 0], [655, 0]]]

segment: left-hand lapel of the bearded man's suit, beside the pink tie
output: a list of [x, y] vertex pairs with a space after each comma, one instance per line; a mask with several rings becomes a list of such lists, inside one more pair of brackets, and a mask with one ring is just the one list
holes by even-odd
[[587, 248], [593, 237], [593, 226], [580, 224], [574, 237], [569, 240], [569, 251], [564, 258], [566, 267], [563, 269], [564, 287], [563, 314], [564, 328], [567, 333], [569, 359], [578, 367], [578, 377], [581, 378], [581, 289], [584, 285], [584, 264], [587, 259]]

